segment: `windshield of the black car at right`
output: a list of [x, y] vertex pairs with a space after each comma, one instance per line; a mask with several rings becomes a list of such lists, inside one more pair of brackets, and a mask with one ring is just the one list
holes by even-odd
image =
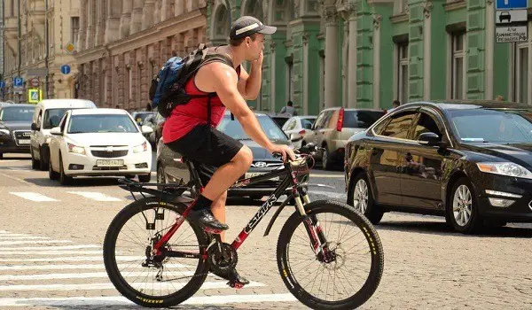
[[532, 143], [532, 109], [468, 109], [449, 113], [463, 142]]

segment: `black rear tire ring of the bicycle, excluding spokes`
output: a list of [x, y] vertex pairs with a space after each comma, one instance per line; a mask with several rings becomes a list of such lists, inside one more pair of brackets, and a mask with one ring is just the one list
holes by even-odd
[[[209, 270], [208, 260], [198, 260], [198, 266], [196, 267], [195, 273], [192, 275], [191, 280], [179, 291], [166, 296], [148, 295], [142, 291], [137, 291], [136, 289], [132, 288], [121, 276], [119, 267], [117, 265], [115, 246], [122, 227], [129, 221], [129, 219], [131, 219], [140, 211], [146, 211], [153, 209], [154, 207], [160, 207], [171, 210], [178, 214], [182, 214], [186, 208], [186, 205], [160, 203], [159, 198], [150, 197], [138, 199], [137, 201], [125, 206], [121, 212], [114, 217], [113, 221], [109, 225], [109, 228], [107, 229], [103, 247], [104, 264], [106, 266], [106, 272], [109, 276], [109, 279], [113, 283], [116, 290], [119, 291], [125, 298], [128, 298], [140, 306], [176, 306], [184, 302], [184, 300], [192, 297], [196, 291], [200, 290], [201, 285], [207, 278]], [[192, 225], [192, 223], [189, 223], [189, 225], [192, 227], [193, 232], [198, 239], [200, 251], [202, 251], [202, 249], [207, 249], [207, 236], [204, 231], [197, 225]]]

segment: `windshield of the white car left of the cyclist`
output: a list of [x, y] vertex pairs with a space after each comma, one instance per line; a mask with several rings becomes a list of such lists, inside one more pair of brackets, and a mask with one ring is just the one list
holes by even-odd
[[68, 125], [69, 134], [136, 133], [135, 123], [125, 114], [73, 115]]

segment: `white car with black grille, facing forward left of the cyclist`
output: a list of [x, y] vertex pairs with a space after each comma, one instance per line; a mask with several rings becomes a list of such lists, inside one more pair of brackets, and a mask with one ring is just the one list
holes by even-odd
[[152, 146], [143, 133], [152, 131], [141, 131], [125, 110], [70, 110], [50, 131], [50, 179], [66, 185], [80, 175], [137, 174], [150, 182]]

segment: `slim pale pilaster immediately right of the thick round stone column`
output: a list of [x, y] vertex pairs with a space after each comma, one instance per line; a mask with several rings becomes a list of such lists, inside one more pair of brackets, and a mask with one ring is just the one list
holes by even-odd
[[356, 107], [356, 11], [355, 5], [348, 7], [349, 50], [348, 50], [348, 107]]

